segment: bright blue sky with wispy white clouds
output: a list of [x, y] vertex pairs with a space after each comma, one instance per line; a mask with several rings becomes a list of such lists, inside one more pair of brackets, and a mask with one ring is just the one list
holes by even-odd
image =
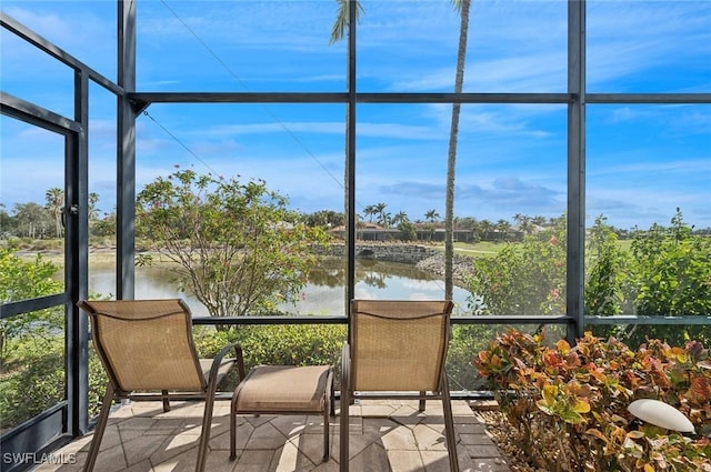
[[[334, 0], [137, 0], [140, 91], [343, 91], [344, 43], [329, 46]], [[358, 90], [453, 90], [459, 19], [447, 0], [363, 0]], [[2, 11], [116, 79], [113, 1], [7, 1]], [[588, 92], [711, 92], [710, 1], [589, 1]], [[567, 11], [557, 1], [475, 1], [464, 90], [564, 92]], [[66, 68], [2, 30], [2, 90], [71, 117]], [[90, 188], [114, 204], [114, 100], [90, 90]], [[359, 210], [444, 214], [451, 107], [357, 109]], [[138, 119], [140, 189], [193, 167], [261, 178], [299, 210], [342, 209], [342, 104], [153, 104]], [[588, 104], [587, 215], [711, 227], [711, 104]], [[0, 202], [61, 187], [62, 142], [0, 121]], [[565, 211], [565, 108], [464, 106], [455, 214], [497, 221]], [[28, 180], [28, 175], [31, 179]]]

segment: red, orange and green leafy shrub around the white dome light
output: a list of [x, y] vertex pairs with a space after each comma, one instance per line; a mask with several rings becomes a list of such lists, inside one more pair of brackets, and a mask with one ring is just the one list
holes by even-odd
[[[474, 365], [497, 389], [511, 441], [549, 471], [711, 471], [711, 362], [699, 342], [650, 340], [638, 351], [591, 333], [571, 348], [510, 330]], [[641, 423], [627, 406], [664, 401], [694, 424], [693, 438]]]

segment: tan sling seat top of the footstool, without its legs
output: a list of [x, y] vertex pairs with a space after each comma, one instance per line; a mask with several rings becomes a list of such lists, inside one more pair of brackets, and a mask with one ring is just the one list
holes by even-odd
[[237, 386], [237, 413], [322, 413], [330, 365], [259, 365]]

